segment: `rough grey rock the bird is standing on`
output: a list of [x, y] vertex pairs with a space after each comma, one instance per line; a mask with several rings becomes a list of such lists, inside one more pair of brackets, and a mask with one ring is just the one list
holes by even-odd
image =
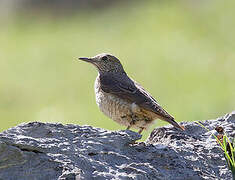
[[218, 125], [235, 137], [235, 111], [203, 122], [138, 133], [32, 122], [0, 133], [0, 179], [232, 179], [211, 136]]

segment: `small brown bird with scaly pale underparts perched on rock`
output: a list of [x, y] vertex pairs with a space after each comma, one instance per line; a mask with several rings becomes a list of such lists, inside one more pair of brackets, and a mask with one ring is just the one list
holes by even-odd
[[156, 119], [184, 130], [139, 83], [125, 72], [120, 60], [109, 53], [80, 57], [96, 67], [95, 96], [99, 109], [110, 119], [141, 134]]

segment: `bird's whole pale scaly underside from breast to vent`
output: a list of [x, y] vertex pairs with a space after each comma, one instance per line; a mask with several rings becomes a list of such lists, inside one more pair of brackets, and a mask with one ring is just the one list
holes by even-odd
[[117, 123], [135, 129], [147, 129], [158, 118], [155, 113], [146, 111], [135, 103], [104, 92], [97, 83], [98, 77], [95, 81], [96, 103], [106, 116]]

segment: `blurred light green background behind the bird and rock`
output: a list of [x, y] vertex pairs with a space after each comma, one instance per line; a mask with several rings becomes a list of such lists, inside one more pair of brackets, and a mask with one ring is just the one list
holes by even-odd
[[104, 1], [2, 11], [0, 131], [29, 121], [125, 129], [96, 106], [96, 69], [77, 61], [102, 52], [117, 56], [177, 121], [235, 110], [234, 7], [232, 0]]

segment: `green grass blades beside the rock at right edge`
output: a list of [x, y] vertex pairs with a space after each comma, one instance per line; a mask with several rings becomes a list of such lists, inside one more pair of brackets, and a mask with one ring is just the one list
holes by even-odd
[[[203, 124], [200, 122], [196, 122], [203, 128], [205, 128], [208, 132], [210, 131], [208, 128], [206, 128]], [[235, 138], [233, 138], [232, 142], [229, 140], [226, 133], [220, 134], [216, 136], [215, 134], [211, 133], [214, 138], [217, 140], [218, 144], [220, 145], [220, 148], [224, 152], [224, 156], [226, 159], [226, 162], [228, 164], [228, 168], [232, 171], [233, 180], [235, 180]]]

